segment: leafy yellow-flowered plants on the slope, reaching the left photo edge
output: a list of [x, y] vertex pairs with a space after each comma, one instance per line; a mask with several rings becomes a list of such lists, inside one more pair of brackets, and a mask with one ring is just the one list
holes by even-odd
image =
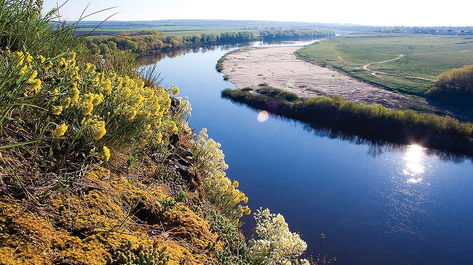
[[[107, 161], [110, 150], [153, 149], [177, 132], [169, 115], [175, 87], [145, 87], [136, 77], [80, 64], [74, 52], [55, 58], [6, 52], [0, 62], [0, 125], [28, 128], [10, 143], [41, 140], [30, 165], [54, 171], [78, 156]], [[56, 156], [46, 165], [49, 152]]]

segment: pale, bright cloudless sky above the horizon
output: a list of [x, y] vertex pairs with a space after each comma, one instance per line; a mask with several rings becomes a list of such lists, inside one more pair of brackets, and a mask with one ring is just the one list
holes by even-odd
[[[44, 0], [49, 10], [65, 0]], [[68, 0], [63, 19], [248, 19], [379, 26], [472, 26], [473, 0]]]

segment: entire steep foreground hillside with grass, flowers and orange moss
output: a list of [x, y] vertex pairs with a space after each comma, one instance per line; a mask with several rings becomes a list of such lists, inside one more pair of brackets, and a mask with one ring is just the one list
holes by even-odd
[[0, 264], [309, 265], [280, 214], [243, 236], [248, 198], [177, 87], [41, 3], [0, 2]]

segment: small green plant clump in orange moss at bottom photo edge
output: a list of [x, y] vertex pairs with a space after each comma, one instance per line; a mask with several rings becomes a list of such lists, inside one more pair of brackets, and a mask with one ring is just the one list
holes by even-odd
[[133, 247], [132, 242], [127, 241], [111, 251], [107, 265], [166, 265], [168, 260], [166, 247], [144, 244]]

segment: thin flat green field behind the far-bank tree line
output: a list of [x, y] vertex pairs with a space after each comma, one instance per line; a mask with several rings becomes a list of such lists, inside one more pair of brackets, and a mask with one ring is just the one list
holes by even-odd
[[[92, 30], [93, 28], [85, 28], [86, 30]], [[252, 32], [259, 32], [259, 29], [242, 29], [241, 27], [193, 27], [193, 26], [166, 26], [166, 27], [152, 27], [152, 28], [101, 28], [97, 29], [97, 32], [107, 32], [107, 33], [121, 33], [121, 32], [139, 32], [139, 31], [150, 31], [150, 30], [158, 30], [163, 32], [167, 36], [193, 36], [193, 35], [200, 35], [202, 33], [205, 34], [220, 34], [222, 32], [237, 32], [237, 31], [252, 31]]]

